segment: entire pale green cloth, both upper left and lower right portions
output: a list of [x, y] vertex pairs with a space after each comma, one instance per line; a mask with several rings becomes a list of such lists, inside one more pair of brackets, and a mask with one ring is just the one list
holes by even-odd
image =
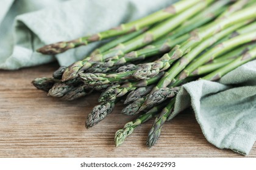
[[[40, 55], [35, 49], [44, 44], [107, 30], [121, 22], [162, 9], [172, 2], [2, 0], [0, 69], [48, 63], [55, 60], [54, 57]], [[68, 66], [84, 58], [99, 43], [68, 50], [55, 57], [60, 65]], [[174, 113], [178, 114], [192, 105], [202, 132], [210, 143], [218, 148], [249, 154], [256, 140], [255, 68], [256, 62], [252, 61], [227, 74], [220, 83], [201, 80], [185, 84], [177, 95]]]

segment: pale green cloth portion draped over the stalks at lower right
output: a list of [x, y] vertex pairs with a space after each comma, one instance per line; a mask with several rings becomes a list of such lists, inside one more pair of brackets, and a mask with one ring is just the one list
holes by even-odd
[[256, 141], [255, 83], [256, 61], [227, 73], [219, 83], [187, 83], [177, 94], [172, 117], [191, 105], [210, 143], [247, 155]]

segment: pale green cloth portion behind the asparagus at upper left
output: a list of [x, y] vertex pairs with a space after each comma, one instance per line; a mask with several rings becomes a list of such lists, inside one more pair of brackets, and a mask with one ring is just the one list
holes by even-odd
[[[7, 2], [9, 1], [1, 4]], [[173, 2], [169, 0], [15, 1], [0, 25], [0, 69], [19, 69], [49, 63], [55, 60], [53, 56], [41, 55], [35, 50], [45, 44], [110, 29], [123, 22], [146, 16]], [[9, 5], [1, 5], [0, 8], [6, 11], [7, 6]], [[31, 11], [35, 12], [31, 13]], [[20, 15], [21, 13], [24, 14]], [[68, 50], [57, 55], [56, 58], [60, 65], [68, 66], [84, 58], [99, 43]]]

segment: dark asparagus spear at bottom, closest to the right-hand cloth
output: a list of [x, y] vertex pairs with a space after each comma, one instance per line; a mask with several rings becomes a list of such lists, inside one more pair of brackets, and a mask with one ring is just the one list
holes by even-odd
[[151, 130], [148, 134], [148, 139], [146, 142], [146, 145], [151, 148], [155, 144], [155, 142], [158, 140], [161, 129], [163, 124], [165, 123], [168, 116], [171, 114], [174, 104], [175, 104], [176, 97], [172, 98], [172, 100], [169, 102], [169, 104], [162, 109], [162, 112], [158, 115], [157, 118], [155, 118], [154, 124], [151, 127]]

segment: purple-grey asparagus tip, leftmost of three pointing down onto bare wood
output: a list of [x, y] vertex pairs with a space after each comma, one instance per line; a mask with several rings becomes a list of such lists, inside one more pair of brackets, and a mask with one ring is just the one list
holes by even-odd
[[113, 101], [103, 102], [95, 107], [90, 114], [88, 114], [87, 121], [85, 122], [85, 127], [93, 127], [95, 124], [98, 124], [99, 121], [103, 120], [108, 114], [110, 114], [115, 107], [115, 104], [120, 100], [116, 98]]

